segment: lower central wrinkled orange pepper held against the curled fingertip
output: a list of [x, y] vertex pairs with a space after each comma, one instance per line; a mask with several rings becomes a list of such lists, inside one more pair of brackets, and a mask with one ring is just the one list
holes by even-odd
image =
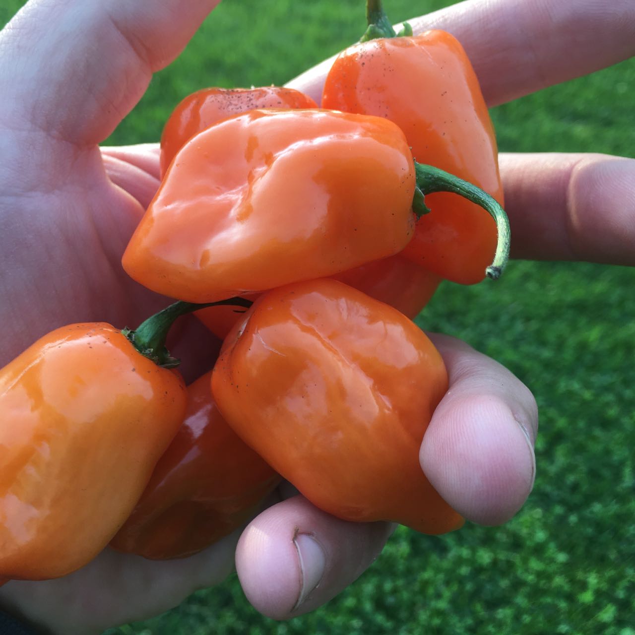
[[425, 533], [462, 524], [418, 459], [447, 387], [416, 324], [330, 279], [259, 298], [212, 375], [225, 420], [314, 505]]

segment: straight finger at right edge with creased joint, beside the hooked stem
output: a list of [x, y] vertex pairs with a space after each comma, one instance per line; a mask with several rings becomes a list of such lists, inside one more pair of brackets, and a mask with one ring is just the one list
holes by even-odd
[[635, 159], [502, 154], [512, 255], [635, 265]]

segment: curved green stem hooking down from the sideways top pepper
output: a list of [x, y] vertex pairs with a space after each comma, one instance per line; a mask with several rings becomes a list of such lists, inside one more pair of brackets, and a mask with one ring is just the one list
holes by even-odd
[[433, 192], [451, 192], [466, 198], [472, 203], [476, 203], [487, 211], [496, 221], [498, 231], [498, 242], [494, 260], [487, 269], [485, 275], [496, 280], [502, 274], [507, 260], [509, 259], [509, 220], [505, 210], [489, 194], [481, 190], [476, 185], [472, 185], [462, 178], [455, 177], [448, 172], [434, 168], [431, 165], [424, 165], [415, 161], [415, 173], [417, 175], [417, 188], [412, 202], [412, 210], [421, 218], [430, 209], [424, 203], [426, 194]]

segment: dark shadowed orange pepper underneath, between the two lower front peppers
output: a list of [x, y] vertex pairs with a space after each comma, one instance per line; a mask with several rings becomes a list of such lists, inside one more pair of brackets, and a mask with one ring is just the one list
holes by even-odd
[[130, 518], [110, 545], [145, 558], [183, 558], [250, 519], [280, 477], [222, 418], [211, 371], [187, 388], [187, 413]]

